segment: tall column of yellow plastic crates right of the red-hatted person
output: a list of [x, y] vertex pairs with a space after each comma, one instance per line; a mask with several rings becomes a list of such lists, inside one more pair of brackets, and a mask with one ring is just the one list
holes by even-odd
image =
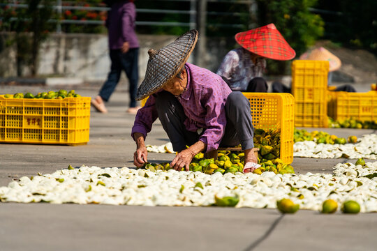
[[295, 97], [295, 126], [327, 127], [328, 72], [329, 61], [293, 61], [292, 94]]

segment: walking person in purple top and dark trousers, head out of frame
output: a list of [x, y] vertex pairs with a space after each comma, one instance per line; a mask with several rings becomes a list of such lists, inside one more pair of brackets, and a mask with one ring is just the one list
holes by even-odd
[[110, 99], [119, 82], [121, 71], [124, 70], [130, 83], [130, 105], [127, 112], [136, 114], [140, 107], [136, 106], [135, 100], [139, 80], [139, 42], [135, 33], [135, 4], [133, 0], [109, 0], [107, 4], [110, 6], [106, 27], [108, 27], [111, 68], [108, 79], [103, 84], [98, 96], [91, 100], [91, 105], [98, 112], [108, 112], [105, 102]]

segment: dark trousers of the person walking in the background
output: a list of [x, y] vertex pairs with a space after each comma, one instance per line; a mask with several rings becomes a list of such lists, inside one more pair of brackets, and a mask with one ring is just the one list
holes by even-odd
[[135, 98], [139, 81], [138, 56], [139, 48], [132, 48], [126, 53], [121, 52], [121, 50], [110, 50], [110, 73], [98, 94], [103, 100], [109, 100], [119, 82], [121, 71], [124, 70], [130, 83], [130, 107], [136, 106]]

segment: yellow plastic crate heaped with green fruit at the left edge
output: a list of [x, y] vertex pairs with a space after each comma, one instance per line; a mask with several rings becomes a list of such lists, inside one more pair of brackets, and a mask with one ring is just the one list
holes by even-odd
[[0, 95], [0, 143], [86, 144], [89, 97], [62, 100]]

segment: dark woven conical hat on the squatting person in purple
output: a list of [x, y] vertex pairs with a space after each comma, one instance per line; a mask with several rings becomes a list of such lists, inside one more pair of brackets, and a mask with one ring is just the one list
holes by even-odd
[[147, 71], [136, 100], [142, 100], [170, 82], [183, 68], [197, 40], [198, 31], [193, 29], [158, 51], [150, 49]]

